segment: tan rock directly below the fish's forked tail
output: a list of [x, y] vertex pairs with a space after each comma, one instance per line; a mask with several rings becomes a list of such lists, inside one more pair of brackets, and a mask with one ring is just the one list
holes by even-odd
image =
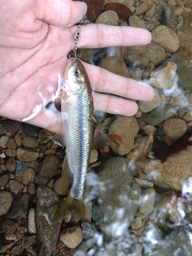
[[63, 229], [59, 239], [69, 248], [76, 248], [82, 241], [82, 230], [79, 226]]

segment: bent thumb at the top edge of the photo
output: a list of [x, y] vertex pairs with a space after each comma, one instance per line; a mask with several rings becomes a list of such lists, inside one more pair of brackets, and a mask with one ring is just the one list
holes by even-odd
[[86, 12], [86, 3], [71, 0], [37, 0], [36, 4], [36, 17], [58, 27], [74, 25]]

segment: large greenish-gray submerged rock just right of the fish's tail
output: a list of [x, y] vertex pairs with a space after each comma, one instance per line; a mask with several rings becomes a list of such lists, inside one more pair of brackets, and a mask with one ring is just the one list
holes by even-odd
[[105, 222], [100, 227], [112, 237], [131, 225], [139, 204], [140, 187], [128, 166], [127, 159], [114, 157], [98, 170], [98, 203]]

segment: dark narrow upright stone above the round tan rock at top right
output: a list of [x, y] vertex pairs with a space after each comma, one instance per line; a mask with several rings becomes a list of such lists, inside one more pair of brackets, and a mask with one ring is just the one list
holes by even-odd
[[161, 23], [175, 31], [175, 10], [173, 5], [164, 5], [161, 13]]

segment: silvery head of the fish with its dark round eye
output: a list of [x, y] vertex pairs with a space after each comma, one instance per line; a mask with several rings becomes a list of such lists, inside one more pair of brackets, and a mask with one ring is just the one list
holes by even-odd
[[63, 79], [63, 88], [68, 95], [77, 94], [84, 90], [87, 73], [81, 61], [77, 58], [70, 59]]

